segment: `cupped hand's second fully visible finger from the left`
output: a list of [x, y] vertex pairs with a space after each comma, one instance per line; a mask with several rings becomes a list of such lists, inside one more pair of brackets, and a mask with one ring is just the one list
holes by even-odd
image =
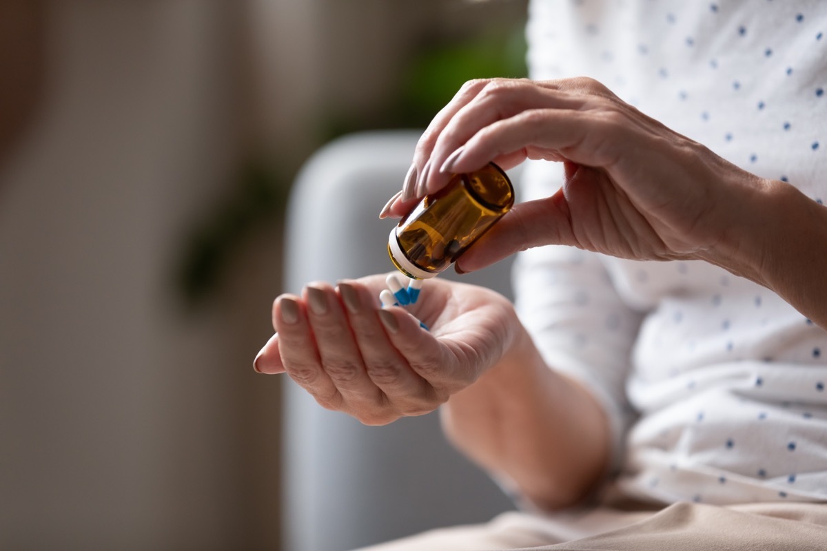
[[313, 283], [304, 287], [304, 297], [319, 359], [338, 392], [352, 405], [381, 404], [336, 292], [327, 283]]

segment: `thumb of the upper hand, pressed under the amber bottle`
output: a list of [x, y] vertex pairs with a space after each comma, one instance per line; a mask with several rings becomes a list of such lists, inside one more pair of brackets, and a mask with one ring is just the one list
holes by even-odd
[[521, 250], [575, 245], [562, 188], [551, 197], [515, 205], [457, 260], [458, 273], [474, 272]]

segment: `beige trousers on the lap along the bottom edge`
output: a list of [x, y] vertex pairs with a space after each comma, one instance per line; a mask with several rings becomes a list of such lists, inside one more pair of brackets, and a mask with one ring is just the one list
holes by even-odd
[[361, 551], [827, 551], [827, 504], [676, 503], [662, 511], [590, 511], [540, 516], [509, 512]]

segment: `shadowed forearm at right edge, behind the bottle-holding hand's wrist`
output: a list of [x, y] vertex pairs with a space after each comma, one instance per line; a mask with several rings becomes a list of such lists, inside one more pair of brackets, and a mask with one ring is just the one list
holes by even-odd
[[827, 329], [827, 208], [787, 183], [763, 181], [739, 210], [734, 228], [744, 235], [725, 236], [710, 261]]

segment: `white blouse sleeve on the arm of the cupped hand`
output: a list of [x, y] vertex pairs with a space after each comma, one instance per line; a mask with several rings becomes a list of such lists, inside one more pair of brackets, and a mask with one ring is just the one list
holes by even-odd
[[[521, 199], [548, 197], [561, 182], [559, 164], [529, 162]], [[642, 314], [619, 297], [600, 254], [562, 245], [518, 254], [514, 296], [520, 320], [547, 366], [586, 387], [604, 408], [616, 471], [633, 418], [625, 382]]]

